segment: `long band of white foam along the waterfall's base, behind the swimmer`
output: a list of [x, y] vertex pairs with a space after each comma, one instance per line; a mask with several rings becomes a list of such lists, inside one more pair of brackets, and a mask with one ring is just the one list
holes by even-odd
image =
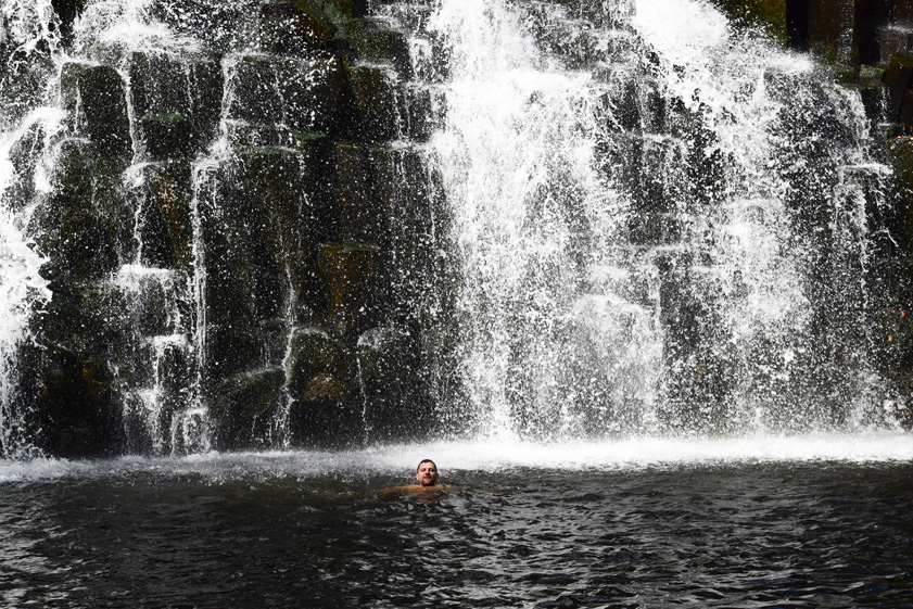
[[0, 483], [62, 478], [199, 475], [212, 482], [272, 478], [302, 481], [325, 477], [410, 478], [422, 459], [433, 459], [446, 479], [466, 472], [534, 470], [638, 472], [763, 464], [873, 466], [913, 462], [913, 435], [756, 435], [728, 439], [632, 437], [600, 442], [533, 443], [440, 441], [358, 451], [200, 453], [185, 457], [123, 457], [103, 461], [0, 460]]

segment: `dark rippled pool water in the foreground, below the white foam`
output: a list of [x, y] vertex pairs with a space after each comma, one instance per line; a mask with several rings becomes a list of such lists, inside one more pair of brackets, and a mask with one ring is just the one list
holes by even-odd
[[0, 482], [0, 605], [913, 607], [909, 461], [80, 468]]

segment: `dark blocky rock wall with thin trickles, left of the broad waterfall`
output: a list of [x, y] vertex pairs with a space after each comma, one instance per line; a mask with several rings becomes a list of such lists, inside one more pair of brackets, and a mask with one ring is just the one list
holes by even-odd
[[[84, 3], [54, 4], [72, 37]], [[21, 392], [48, 454], [414, 435], [438, 248], [410, 142], [433, 117], [404, 35], [367, 9], [170, 2], [177, 30], [229, 27], [195, 54], [63, 66], [29, 227], [53, 300]]]

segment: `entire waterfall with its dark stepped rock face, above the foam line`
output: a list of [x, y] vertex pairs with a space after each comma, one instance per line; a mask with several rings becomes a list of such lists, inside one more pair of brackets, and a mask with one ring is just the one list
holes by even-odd
[[824, 68], [699, 0], [319, 4], [4, 0], [5, 455], [20, 384], [62, 453], [897, 422]]

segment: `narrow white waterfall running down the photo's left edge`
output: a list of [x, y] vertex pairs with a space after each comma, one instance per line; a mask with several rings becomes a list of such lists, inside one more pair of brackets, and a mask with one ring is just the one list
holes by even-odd
[[[25, 230], [34, 207], [20, 196], [45, 186], [45, 167], [28, 151], [47, 143], [60, 115], [34, 107], [47, 92], [58, 45], [50, 3], [4, 2], [0, 17], [0, 457], [7, 458], [34, 453], [18, 399], [18, 359], [31, 339], [31, 313], [50, 299], [39, 274], [45, 258]], [[30, 173], [38, 179], [26, 179]]]

